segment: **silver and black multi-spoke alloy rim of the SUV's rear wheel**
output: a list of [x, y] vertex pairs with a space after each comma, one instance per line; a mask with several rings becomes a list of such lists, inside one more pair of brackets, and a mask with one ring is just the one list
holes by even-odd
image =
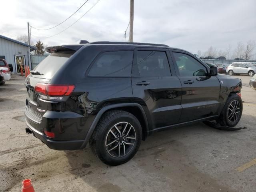
[[108, 131], [105, 147], [108, 154], [120, 158], [127, 155], [132, 150], [135, 141], [136, 132], [132, 124], [119, 122]]

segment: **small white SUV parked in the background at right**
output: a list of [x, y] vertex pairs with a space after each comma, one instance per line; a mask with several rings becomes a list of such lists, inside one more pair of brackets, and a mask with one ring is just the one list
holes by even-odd
[[229, 75], [248, 74], [249, 76], [254, 76], [256, 73], [256, 66], [250, 62], [233, 62], [230, 66], [228, 66], [226, 72]]

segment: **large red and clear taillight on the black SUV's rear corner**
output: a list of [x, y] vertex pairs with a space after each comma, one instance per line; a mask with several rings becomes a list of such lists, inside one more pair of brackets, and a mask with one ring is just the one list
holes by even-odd
[[69, 96], [74, 88], [74, 85], [37, 83], [34, 89], [42, 99], [62, 100], [65, 96]]

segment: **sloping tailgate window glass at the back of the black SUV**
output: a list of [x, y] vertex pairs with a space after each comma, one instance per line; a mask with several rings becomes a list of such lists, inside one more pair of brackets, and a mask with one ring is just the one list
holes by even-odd
[[34, 68], [34, 71], [38, 71], [43, 75], [36, 75], [38, 78], [51, 79], [59, 68], [70, 58], [74, 51], [60, 51], [50, 54], [44, 60]]

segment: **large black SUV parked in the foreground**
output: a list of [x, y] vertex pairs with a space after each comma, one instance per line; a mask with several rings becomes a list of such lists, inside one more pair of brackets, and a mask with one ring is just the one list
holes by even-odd
[[108, 165], [159, 130], [205, 120], [235, 126], [240, 79], [163, 44], [91, 42], [48, 48], [26, 78], [26, 131], [55, 150], [88, 143]]

